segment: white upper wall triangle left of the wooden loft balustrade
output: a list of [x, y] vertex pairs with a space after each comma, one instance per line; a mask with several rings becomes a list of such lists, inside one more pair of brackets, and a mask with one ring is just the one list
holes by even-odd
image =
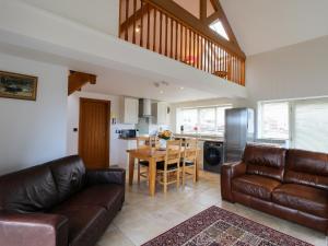
[[21, 0], [80, 24], [118, 35], [119, 0]]

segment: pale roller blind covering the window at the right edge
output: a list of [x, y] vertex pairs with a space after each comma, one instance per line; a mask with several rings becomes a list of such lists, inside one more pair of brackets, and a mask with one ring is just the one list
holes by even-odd
[[328, 152], [328, 99], [296, 101], [294, 147]]

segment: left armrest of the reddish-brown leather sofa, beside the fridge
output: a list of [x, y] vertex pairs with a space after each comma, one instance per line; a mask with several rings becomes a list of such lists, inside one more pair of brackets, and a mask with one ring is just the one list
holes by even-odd
[[221, 196], [224, 200], [234, 202], [232, 196], [232, 179], [246, 173], [246, 164], [243, 162], [226, 163], [221, 168]]

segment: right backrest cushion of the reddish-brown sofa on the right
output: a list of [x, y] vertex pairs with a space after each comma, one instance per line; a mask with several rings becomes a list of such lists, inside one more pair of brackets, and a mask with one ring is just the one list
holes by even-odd
[[328, 191], [328, 154], [289, 150], [284, 183], [307, 185]]

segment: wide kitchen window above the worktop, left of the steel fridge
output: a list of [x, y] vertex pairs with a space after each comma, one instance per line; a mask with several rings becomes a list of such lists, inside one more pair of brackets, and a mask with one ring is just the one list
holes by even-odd
[[184, 126], [185, 133], [223, 136], [226, 108], [231, 108], [231, 106], [179, 108], [176, 129]]

